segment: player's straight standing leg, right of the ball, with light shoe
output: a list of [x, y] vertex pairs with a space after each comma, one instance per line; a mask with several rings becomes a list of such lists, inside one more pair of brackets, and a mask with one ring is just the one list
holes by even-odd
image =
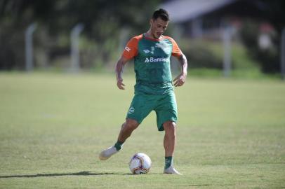
[[164, 149], [165, 149], [165, 174], [180, 174], [173, 167], [173, 154], [176, 144], [176, 124], [173, 121], [166, 121], [163, 124], [164, 134]]

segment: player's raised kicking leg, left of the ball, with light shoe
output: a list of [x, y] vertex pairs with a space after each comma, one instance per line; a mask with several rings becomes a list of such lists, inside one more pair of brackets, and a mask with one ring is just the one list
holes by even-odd
[[105, 151], [102, 151], [99, 155], [99, 159], [107, 160], [112, 155], [121, 150], [121, 146], [124, 144], [126, 139], [131, 136], [131, 133], [138, 127], [138, 125], [139, 123], [136, 120], [127, 118], [126, 122], [121, 125], [121, 131], [119, 133], [117, 143], [114, 146], [107, 148]]

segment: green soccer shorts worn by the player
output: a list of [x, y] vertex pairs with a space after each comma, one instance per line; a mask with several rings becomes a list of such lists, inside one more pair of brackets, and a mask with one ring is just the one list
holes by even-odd
[[153, 110], [157, 113], [157, 129], [159, 131], [164, 130], [162, 125], [168, 120], [176, 123], [178, 113], [174, 92], [166, 94], [135, 93], [126, 118], [142, 123], [143, 119]]

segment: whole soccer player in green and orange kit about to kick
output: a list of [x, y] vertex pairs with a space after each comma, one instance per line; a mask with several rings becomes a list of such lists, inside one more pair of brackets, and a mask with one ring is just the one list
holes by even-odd
[[[177, 105], [173, 85], [182, 86], [187, 76], [187, 59], [169, 36], [163, 36], [168, 26], [169, 16], [166, 10], [156, 10], [150, 19], [150, 29], [145, 34], [134, 36], [128, 41], [123, 55], [117, 62], [117, 87], [124, 90], [122, 71], [126, 62], [134, 59], [135, 96], [131, 102], [122, 125], [117, 143], [99, 155], [107, 160], [121, 150], [122, 145], [131, 136], [143, 119], [151, 112], [157, 114], [157, 128], [165, 131], [165, 174], [180, 174], [173, 167], [173, 153], [176, 143]], [[182, 69], [178, 77], [171, 78], [170, 58], [177, 57]]]

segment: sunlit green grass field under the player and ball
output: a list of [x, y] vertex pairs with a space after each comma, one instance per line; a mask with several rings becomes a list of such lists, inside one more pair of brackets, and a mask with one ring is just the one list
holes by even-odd
[[[285, 83], [188, 78], [175, 90], [178, 145], [164, 175], [163, 132], [154, 113], [124, 149], [117, 139], [134, 76], [117, 90], [108, 74], [0, 73], [0, 188], [285, 188]], [[132, 175], [134, 153], [152, 158]]]

